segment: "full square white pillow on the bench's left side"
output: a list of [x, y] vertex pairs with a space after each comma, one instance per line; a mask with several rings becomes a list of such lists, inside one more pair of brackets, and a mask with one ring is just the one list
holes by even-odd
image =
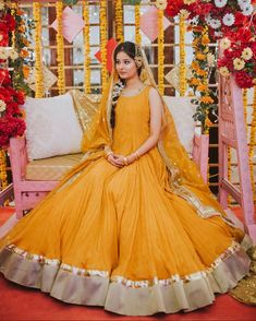
[[25, 102], [28, 159], [81, 152], [83, 131], [69, 93]]

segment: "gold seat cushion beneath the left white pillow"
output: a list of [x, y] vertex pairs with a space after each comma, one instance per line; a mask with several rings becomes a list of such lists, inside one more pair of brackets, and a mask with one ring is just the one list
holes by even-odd
[[31, 160], [26, 165], [28, 180], [60, 180], [71, 168], [80, 163], [83, 154], [56, 156], [46, 159]]

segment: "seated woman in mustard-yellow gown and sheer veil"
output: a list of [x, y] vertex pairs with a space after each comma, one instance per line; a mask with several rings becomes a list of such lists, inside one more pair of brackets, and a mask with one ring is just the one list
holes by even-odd
[[133, 43], [114, 50], [83, 147], [81, 165], [1, 241], [7, 278], [145, 316], [204, 307], [246, 275], [247, 237], [188, 159]]

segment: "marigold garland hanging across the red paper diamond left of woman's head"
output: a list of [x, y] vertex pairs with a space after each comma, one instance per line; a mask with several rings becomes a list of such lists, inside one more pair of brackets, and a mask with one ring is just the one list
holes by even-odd
[[101, 83], [102, 94], [106, 91], [108, 82], [108, 70], [107, 70], [107, 0], [100, 1], [99, 9], [99, 21], [100, 21], [100, 57], [101, 57]]

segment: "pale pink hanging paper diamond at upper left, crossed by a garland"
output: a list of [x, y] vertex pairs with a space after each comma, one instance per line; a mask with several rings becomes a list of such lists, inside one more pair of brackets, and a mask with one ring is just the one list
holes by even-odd
[[[85, 26], [83, 19], [76, 14], [70, 7], [65, 7], [62, 12], [62, 33], [61, 35], [69, 41], [73, 43], [74, 38], [80, 34], [80, 32]], [[51, 27], [58, 31], [57, 19], [51, 24]]]

